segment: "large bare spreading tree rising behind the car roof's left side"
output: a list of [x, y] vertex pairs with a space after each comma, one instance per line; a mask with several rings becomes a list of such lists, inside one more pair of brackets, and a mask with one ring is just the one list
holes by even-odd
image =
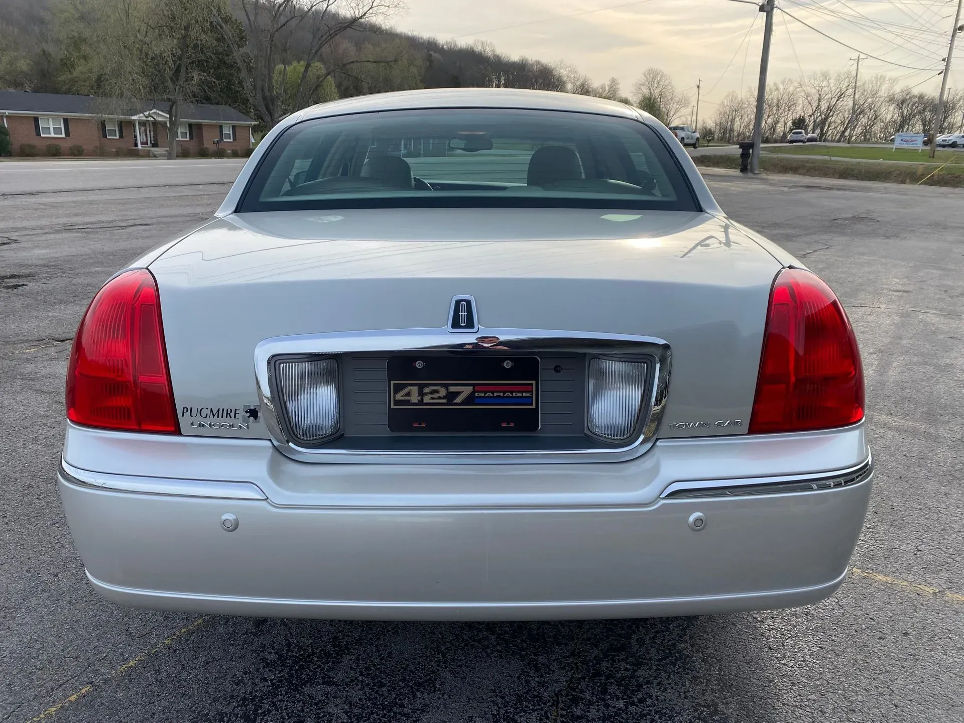
[[[375, 20], [402, 5], [400, 0], [232, 0], [232, 7], [244, 24], [246, 41], [230, 32], [226, 23], [218, 24], [244, 76], [254, 114], [270, 128], [284, 115], [275, 67], [305, 64], [294, 98], [296, 107], [304, 107], [317, 92], [312, 84], [348, 67], [378, 62], [328, 57], [335, 40], [349, 31], [375, 30]], [[321, 76], [310, 75], [316, 63], [326, 68]]]

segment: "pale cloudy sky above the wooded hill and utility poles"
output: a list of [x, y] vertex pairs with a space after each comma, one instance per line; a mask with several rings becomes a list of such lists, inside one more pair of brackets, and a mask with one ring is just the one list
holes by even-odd
[[[731, 0], [407, 0], [393, 18], [400, 30], [440, 40], [489, 40], [504, 53], [573, 63], [597, 83], [619, 78], [624, 93], [648, 66], [680, 88], [703, 80], [703, 100], [756, 86], [763, 13]], [[887, 72], [900, 85], [936, 90], [956, 0], [779, 0], [778, 5], [831, 38], [877, 56], [861, 73]], [[577, 14], [576, 14], [577, 13]], [[857, 52], [820, 36], [786, 13], [774, 18], [770, 78], [815, 69], [853, 68]], [[951, 87], [964, 87], [964, 43]], [[701, 114], [702, 115], [702, 114]]]

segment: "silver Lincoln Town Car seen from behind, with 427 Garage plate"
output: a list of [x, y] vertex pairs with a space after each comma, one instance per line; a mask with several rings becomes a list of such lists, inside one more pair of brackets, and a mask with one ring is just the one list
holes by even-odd
[[815, 603], [867, 511], [826, 283], [622, 103], [308, 108], [97, 292], [59, 470], [117, 603], [613, 618]]

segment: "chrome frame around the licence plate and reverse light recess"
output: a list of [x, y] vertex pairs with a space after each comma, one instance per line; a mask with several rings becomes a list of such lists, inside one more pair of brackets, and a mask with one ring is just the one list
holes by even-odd
[[[488, 337], [488, 338], [486, 338]], [[485, 339], [484, 341], [480, 341]], [[493, 341], [492, 339], [495, 339]], [[334, 355], [362, 352], [453, 351], [477, 349], [484, 353], [497, 344], [502, 350], [538, 353], [539, 350], [582, 354], [637, 354], [651, 358], [653, 383], [648, 408], [641, 415], [639, 433], [620, 446], [587, 446], [566, 450], [453, 451], [372, 450], [307, 448], [284, 432], [278, 405], [272, 394], [270, 362], [280, 355]], [[474, 336], [445, 329], [399, 329], [373, 332], [280, 336], [261, 341], [254, 348], [254, 375], [261, 414], [272, 442], [282, 454], [303, 462], [336, 464], [553, 464], [559, 462], [623, 462], [644, 454], [654, 442], [666, 406], [671, 363], [669, 344], [653, 336], [595, 334], [538, 329], [489, 329], [479, 327]]]

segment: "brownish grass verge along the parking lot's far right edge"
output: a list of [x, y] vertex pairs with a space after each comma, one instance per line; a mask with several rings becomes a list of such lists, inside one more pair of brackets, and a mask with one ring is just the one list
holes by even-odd
[[[964, 154], [961, 163], [941, 169], [926, 163], [853, 163], [831, 161], [819, 156], [800, 153], [763, 153], [760, 168], [771, 174], [817, 175], [824, 178], [851, 178], [875, 180], [888, 183], [924, 183], [927, 186], [951, 186], [964, 188]], [[697, 166], [714, 168], [739, 168], [738, 155], [694, 155]], [[937, 173], [933, 173], [937, 169]]]

